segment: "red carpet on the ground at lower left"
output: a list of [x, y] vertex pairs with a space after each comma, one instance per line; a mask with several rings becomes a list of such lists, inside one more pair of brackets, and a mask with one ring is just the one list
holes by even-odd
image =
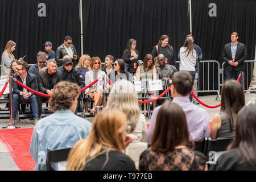
[[13, 158], [20, 171], [31, 171], [35, 162], [30, 155], [33, 129], [2, 129], [0, 140]]

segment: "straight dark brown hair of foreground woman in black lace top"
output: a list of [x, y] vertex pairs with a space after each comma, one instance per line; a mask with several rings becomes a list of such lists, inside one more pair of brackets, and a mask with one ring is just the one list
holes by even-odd
[[174, 147], [189, 147], [189, 131], [184, 111], [175, 102], [166, 102], [158, 112], [151, 147], [155, 152], [170, 152]]

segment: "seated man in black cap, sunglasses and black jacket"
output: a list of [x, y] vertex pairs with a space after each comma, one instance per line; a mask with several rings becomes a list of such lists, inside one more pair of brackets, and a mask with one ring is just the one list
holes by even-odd
[[63, 59], [63, 70], [62, 70], [62, 76], [61, 81], [70, 81], [73, 83], [76, 83], [80, 86], [80, 88], [85, 87], [84, 78], [82, 78], [82, 74], [79, 70], [72, 67], [73, 62], [69, 58]]

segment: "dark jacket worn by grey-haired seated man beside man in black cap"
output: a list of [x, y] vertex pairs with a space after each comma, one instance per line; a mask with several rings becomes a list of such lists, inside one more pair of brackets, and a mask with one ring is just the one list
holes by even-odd
[[[52, 78], [53, 86], [60, 81], [60, 78], [61, 78], [61, 71], [56, 70]], [[45, 72], [39, 71], [37, 76], [37, 81], [38, 81], [38, 92], [46, 93], [46, 90], [49, 89], [49, 86], [50, 86], [48, 81], [47, 71]]]

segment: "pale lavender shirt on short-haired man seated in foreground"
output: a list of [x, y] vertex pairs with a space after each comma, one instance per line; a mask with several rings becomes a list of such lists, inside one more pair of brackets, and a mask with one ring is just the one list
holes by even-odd
[[[209, 115], [203, 108], [192, 104], [188, 97], [175, 97], [172, 102], [178, 104], [184, 111], [187, 118], [188, 131], [191, 135], [191, 140], [200, 141], [205, 137], [209, 137]], [[153, 131], [155, 129], [156, 116], [161, 106], [158, 106], [153, 111], [150, 127], [147, 132], [147, 143], [151, 143]]]

